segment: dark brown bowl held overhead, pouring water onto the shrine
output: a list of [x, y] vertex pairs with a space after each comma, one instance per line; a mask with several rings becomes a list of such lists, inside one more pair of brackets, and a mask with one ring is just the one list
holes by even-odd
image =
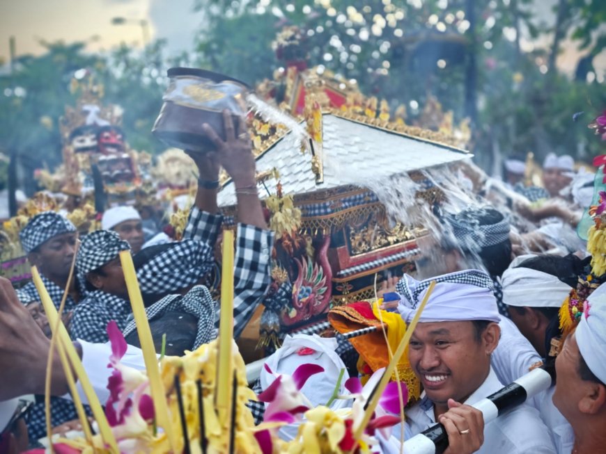
[[170, 147], [192, 152], [210, 152], [215, 145], [205, 135], [202, 125], [208, 124], [217, 136], [227, 140], [223, 111], [232, 112], [235, 131], [240, 117], [246, 113], [244, 96], [249, 87], [233, 77], [198, 70], [173, 67], [168, 71], [171, 79], [164, 95], [152, 132]]

